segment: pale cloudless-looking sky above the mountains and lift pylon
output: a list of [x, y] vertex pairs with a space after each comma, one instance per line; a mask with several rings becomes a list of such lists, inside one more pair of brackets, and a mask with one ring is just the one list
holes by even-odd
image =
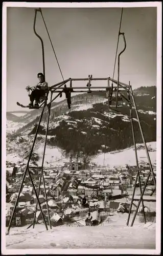
[[[42, 8], [64, 79], [89, 74], [112, 77], [121, 10]], [[34, 8], [7, 8], [7, 111], [20, 110], [16, 101], [29, 103], [25, 88], [37, 84], [37, 73], [42, 72], [41, 42], [33, 31], [34, 15]], [[121, 55], [120, 81], [130, 80], [133, 89], [156, 85], [156, 19], [155, 7], [123, 10], [121, 32], [125, 33], [127, 47]], [[62, 77], [39, 12], [36, 31], [44, 42], [45, 76], [52, 86]], [[123, 47], [120, 37], [118, 53]], [[117, 77], [116, 66], [114, 79]]]

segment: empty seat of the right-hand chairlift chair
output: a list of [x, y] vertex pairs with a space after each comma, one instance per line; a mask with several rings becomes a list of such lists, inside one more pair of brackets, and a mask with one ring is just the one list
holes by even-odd
[[[106, 89], [106, 96], [109, 100], [110, 108], [122, 108], [124, 105], [122, 96], [119, 93], [117, 96], [117, 89], [114, 89], [114, 91], [112, 91], [112, 93], [111, 93], [110, 89], [111, 88]], [[118, 105], [116, 106], [117, 97], [118, 97]]]

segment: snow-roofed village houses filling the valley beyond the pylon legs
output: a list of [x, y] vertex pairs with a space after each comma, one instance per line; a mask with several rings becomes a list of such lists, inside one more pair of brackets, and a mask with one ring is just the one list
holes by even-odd
[[[14, 208], [16, 196], [19, 191], [22, 175], [24, 174], [24, 165], [15, 165], [7, 167], [10, 173], [7, 179], [6, 195], [6, 226], [8, 226], [11, 211]], [[142, 188], [149, 173], [148, 164], [142, 164], [141, 181]], [[156, 175], [156, 165], [153, 165]], [[88, 169], [83, 169], [78, 159], [70, 160], [65, 166], [55, 166], [44, 168], [44, 179], [46, 194], [48, 196], [48, 206], [52, 226], [83, 227], [86, 226], [88, 212], [92, 216], [91, 226], [120, 225], [126, 226], [129, 207], [133, 194], [133, 186], [137, 173], [136, 166], [126, 165], [121, 168], [107, 168], [89, 164]], [[39, 168], [35, 172], [30, 170], [36, 189], [39, 184]], [[153, 189], [152, 178], [149, 180], [146, 193], [144, 195], [144, 206], [147, 223], [155, 223], [156, 216], [156, 196], [151, 196]], [[134, 201], [131, 209], [131, 218], [140, 197], [139, 182], [137, 181]], [[83, 198], [86, 203], [83, 206]], [[40, 186], [39, 201], [43, 213], [48, 223], [48, 212], [45, 203], [43, 183]], [[22, 192], [19, 197], [18, 207], [16, 208], [15, 218], [12, 228], [27, 228], [33, 224], [37, 199], [34, 194], [31, 181], [27, 175]], [[144, 223], [142, 206], [139, 207], [138, 216], [135, 220], [137, 223]], [[43, 225], [41, 212], [36, 212], [36, 226]], [[43, 225], [44, 227], [44, 225]], [[32, 227], [31, 227], [32, 228]], [[28, 230], [28, 229], [27, 229]], [[14, 234], [14, 233], [13, 233]], [[10, 241], [10, 238], [8, 238]], [[9, 248], [10, 242], [7, 243]], [[153, 247], [152, 247], [153, 248]]]

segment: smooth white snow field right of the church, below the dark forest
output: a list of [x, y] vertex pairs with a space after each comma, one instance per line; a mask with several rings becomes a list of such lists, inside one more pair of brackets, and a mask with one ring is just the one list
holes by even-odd
[[[139, 146], [139, 145], [143, 145], [143, 144], [136, 144], [136, 146]], [[149, 149], [149, 156], [152, 164], [156, 163], [156, 142], [155, 141], [148, 142], [147, 147]], [[152, 152], [150, 150], [152, 150]], [[138, 156], [138, 161], [140, 163], [148, 162], [145, 148], [137, 150], [137, 156]], [[91, 162], [97, 163], [99, 165], [103, 165], [103, 164], [106, 166], [108, 165], [109, 167], [125, 166], [126, 164], [136, 165], [134, 147], [132, 146], [118, 152], [114, 151], [114, 152], [106, 153], [105, 159], [104, 159], [104, 154], [99, 154], [94, 159], [92, 159]]]

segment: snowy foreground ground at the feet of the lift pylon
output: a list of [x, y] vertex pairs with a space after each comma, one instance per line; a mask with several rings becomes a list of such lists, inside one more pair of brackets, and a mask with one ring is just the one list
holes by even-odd
[[47, 231], [41, 224], [34, 229], [14, 227], [6, 236], [6, 249], [54, 249], [53, 253], [55, 249], [155, 249], [155, 223], [135, 220], [130, 227], [126, 226], [127, 217], [128, 214], [117, 214], [99, 226], [62, 225]]

